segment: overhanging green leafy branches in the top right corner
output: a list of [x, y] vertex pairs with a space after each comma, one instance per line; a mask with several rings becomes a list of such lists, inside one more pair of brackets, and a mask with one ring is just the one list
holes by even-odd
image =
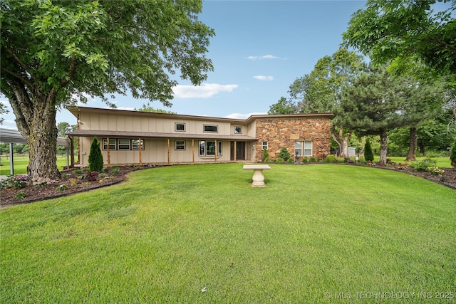
[[378, 63], [422, 61], [456, 80], [455, 9], [455, 0], [368, 0], [351, 17], [343, 44]]

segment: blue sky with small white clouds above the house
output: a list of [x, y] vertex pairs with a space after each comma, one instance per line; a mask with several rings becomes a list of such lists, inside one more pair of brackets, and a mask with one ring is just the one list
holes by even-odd
[[[264, 114], [289, 85], [314, 69], [318, 59], [331, 56], [341, 42], [351, 15], [366, 1], [215, 1], [203, 2], [199, 20], [214, 28], [207, 57], [214, 71], [199, 87], [180, 80], [172, 108], [154, 101], [153, 108], [178, 114], [247, 118]], [[0, 101], [8, 105], [6, 98]], [[149, 100], [120, 96], [120, 109], [141, 108]], [[88, 107], [107, 108], [100, 99]], [[1, 127], [14, 128], [11, 111]], [[76, 124], [61, 110], [57, 122]]]

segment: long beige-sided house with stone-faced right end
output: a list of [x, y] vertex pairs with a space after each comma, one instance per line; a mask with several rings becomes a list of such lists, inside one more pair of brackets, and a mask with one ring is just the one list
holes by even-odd
[[[332, 114], [252, 115], [247, 120], [133, 110], [69, 107], [78, 130], [79, 164], [88, 165], [94, 137], [106, 165], [261, 162], [323, 157], [330, 152]], [[73, 141], [71, 141], [73, 142]], [[74, 155], [71, 157], [74, 165]]]

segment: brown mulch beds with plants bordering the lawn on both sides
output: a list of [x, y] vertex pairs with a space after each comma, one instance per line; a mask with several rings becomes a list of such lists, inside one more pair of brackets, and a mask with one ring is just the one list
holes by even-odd
[[[341, 164], [341, 163], [339, 163]], [[366, 166], [366, 167], [373, 167], [376, 169], [389, 169], [395, 170], [398, 172], [403, 172], [405, 174], [413, 174], [417, 177], [422, 177], [424, 179], [430, 180], [432, 182], [436, 182], [437, 184], [442, 184], [446, 187], [450, 187], [451, 189], [456, 190], [456, 169], [444, 168], [445, 172], [441, 175], [432, 175], [430, 172], [420, 172], [416, 171], [410, 167], [400, 167], [398, 164], [390, 164], [388, 166], [380, 166], [379, 164], [375, 165], [362, 165], [362, 164], [343, 164], [347, 166]], [[137, 171], [138, 169], [147, 169], [150, 167], [119, 167], [118, 174], [106, 174], [107, 176], [104, 178], [98, 178], [96, 181], [87, 181], [87, 180], [78, 180], [78, 182], [74, 182], [77, 179], [77, 174], [75, 174], [75, 170], [62, 172], [64, 177], [58, 182], [54, 182], [50, 185], [44, 186], [33, 186], [28, 185], [27, 187], [21, 189], [2, 189], [0, 191], [0, 208], [4, 208], [7, 206], [14, 206], [17, 204], [28, 204], [33, 203], [35, 201], [43, 201], [46, 199], [55, 199], [61, 196], [68, 196], [71, 194], [76, 194], [80, 192], [87, 192], [92, 189], [98, 189], [101, 187], [108, 187], [112, 186], [113, 184], [118, 184], [120, 182], [124, 182], [128, 179], [128, 174], [133, 171]], [[73, 182], [71, 182], [73, 180]], [[65, 190], [58, 190], [58, 186], [64, 184], [67, 189]], [[22, 199], [16, 198], [16, 195], [22, 192], [24, 193], [25, 197]]]

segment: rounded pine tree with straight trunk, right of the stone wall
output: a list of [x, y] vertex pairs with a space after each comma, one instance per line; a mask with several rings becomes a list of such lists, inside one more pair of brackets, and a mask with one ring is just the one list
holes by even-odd
[[404, 124], [401, 112], [410, 86], [393, 77], [384, 66], [369, 65], [351, 85], [343, 88], [334, 113], [343, 127], [360, 136], [380, 136], [380, 164], [386, 164], [389, 130]]

